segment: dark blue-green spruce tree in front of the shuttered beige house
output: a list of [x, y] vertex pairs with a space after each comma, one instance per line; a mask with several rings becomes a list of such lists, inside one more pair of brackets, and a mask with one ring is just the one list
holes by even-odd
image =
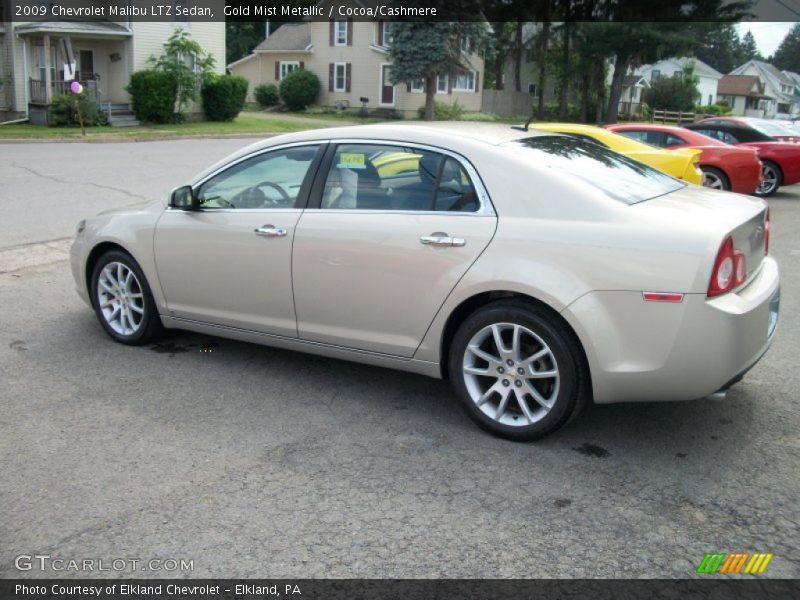
[[[411, 84], [423, 81], [425, 88], [425, 119], [433, 120], [433, 100], [436, 77], [453, 76], [458, 70], [469, 69], [467, 56], [462, 53], [462, 41], [469, 40], [470, 50], [483, 45], [485, 22], [402, 21], [392, 23], [392, 83]], [[476, 82], [477, 84], [477, 82]]]

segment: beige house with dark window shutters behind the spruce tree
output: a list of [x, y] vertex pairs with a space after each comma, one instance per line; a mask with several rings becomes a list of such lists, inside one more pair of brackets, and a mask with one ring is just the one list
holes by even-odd
[[[234, 75], [250, 82], [280, 84], [294, 69], [308, 69], [319, 77], [321, 106], [355, 107], [365, 104], [375, 110], [398, 111], [415, 116], [425, 105], [422, 82], [392, 85], [389, 56], [390, 28], [379, 22], [304, 22], [284, 24], [262, 41], [249, 56], [228, 65]], [[436, 101], [458, 102], [465, 110], [481, 110], [483, 59], [471, 52], [469, 40], [462, 42], [470, 68], [442, 75], [436, 82]], [[362, 102], [366, 98], [366, 102]]]

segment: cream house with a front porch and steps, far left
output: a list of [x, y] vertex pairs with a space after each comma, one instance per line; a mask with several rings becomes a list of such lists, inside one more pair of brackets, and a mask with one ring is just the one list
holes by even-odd
[[[29, 117], [45, 124], [53, 95], [72, 82], [71, 54], [74, 79], [89, 89], [112, 124], [131, 123], [125, 86], [133, 72], [147, 68], [150, 56], [163, 52], [176, 27], [186, 28], [224, 72], [224, 22], [0, 20], [0, 122]], [[190, 112], [201, 110], [195, 106]]]

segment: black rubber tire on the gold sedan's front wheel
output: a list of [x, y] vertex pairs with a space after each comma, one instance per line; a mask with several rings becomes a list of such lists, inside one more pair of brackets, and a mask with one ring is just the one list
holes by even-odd
[[[136, 312], [134, 315], [135, 310], [131, 310], [129, 312], [134, 319], [140, 317], [140, 321], [136, 327], [134, 327], [134, 322], [129, 322], [130, 332], [127, 332], [124, 329], [123, 331], [118, 331], [118, 325], [114, 325], [113, 321], [109, 322], [109, 319], [106, 317], [103, 312], [103, 308], [101, 307], [101, 303], [104, 300], [103, 294], [105, 292], [101, 292], [99, 290], [98, 282], [103, 270], [106, 268], [106, 266], [111, 265], [112, 263], [124, 265], [130, 271], [132, 271], [133, 275], [135, 276], [135, 280], [138, 285], [132, 288], [131, 300], [128, 300], [128, 302], [136, 302], [133, 297], [141, 294], [141, 302], [136, 302], [135, 309], [140, 309], [142, 313], [139, 314]], [[104, 281], [104, 283], [107, 282]], [[113, 296], [113, 294], [111, 295]], [[97, 260], [94, 265], [94, 269], [92, 269], [89, 296], [92, 299], [92, 307], [97, 315], [97, 319], [100, 321], [100, 325], [102, 325], [103, 329], [106, 330], [106, 333], [108, 333], [108, 335], [110, 335], [117, 342], [131, 346], [146, 344], [158, 338], [163, 332], [161, 318], [158, 316], [158, 309], [156, 308], [155, 301], [153, 300], [153, 294], [150, 291], [150, 285], [147, 283], [147, 278], [144, 276], [144, 273], [142, 272], [142, 269], [139, 267], [138, 263], [126, 252], [121, 250], [111, 250], [103, 254]], [[112, 305], [110, 308], [113, 308], [113, 306], [114, 305]]]

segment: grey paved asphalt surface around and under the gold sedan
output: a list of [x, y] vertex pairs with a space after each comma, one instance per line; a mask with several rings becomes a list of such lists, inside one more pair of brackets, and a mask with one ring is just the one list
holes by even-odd
[[[243, 143], [0, 146], [3, 243], [69, 235]], [[596, 407], [528, 445], [419, 376], [185, 333], [114, 344], [58, 255], [0, 273], [0, 577], [20, 554], [195, 577], [688, 577], [735, 550], [800, 577], [798, 187], [771, 201], [775, 344], [727, 400]]]

